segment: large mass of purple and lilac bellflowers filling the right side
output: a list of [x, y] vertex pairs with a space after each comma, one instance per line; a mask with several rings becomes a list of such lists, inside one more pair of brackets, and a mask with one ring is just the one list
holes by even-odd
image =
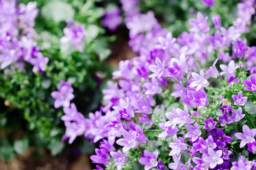
[[[208, 17], [198, 12], [197, 19], [188, 20], [189, 32], [177, 39], [161, 28], [152, 11], [141, 14], [137, 0], [120, 1], [129, 45], [140, 57], [119, 62], [119, 70], [113, 72], [118, 82], [109, 81], [102, 91], [107, 105], [101, 111], [81, 117], [83, 127], [67, 127], [73, 136], [84, 133], [93, 142], [104, 141], [91, 156], [93, 163], [118, 170], [131, 169], [136, 161], [145, 170], [254, 170], [255, 116], [247, 112], [255, 114], [251, 101], [256, 79], [251, 75], [247, 80], [247, 68], [255, 73], [256, 48], [242, 40], [255, 12], [254, 0], [239, 3], [239, 17], [227, 29], [218, 14], [212, 16], [215, 28], [210, 28]], [[213, 2], [204, 1], [208, 6]], [[247, 102], [253, 111], [245, 107]], [[123, 153], [113, 151], [115, 142]], [[152, 142], [160, 144], [153, 148]]]

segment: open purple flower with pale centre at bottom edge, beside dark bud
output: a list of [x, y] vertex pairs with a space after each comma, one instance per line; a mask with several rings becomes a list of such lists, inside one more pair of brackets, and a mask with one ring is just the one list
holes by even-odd
[[157, 162], [157, 157], [158, 157], [158, 152], [153, 152], [150, 153], [148, 150], [144, 150], [144, 157], [142, 157], [139, 162], [140, 164], [145, 165], [144, 169], [149, 170], [152, 167], [156, 167], [158, 162]]

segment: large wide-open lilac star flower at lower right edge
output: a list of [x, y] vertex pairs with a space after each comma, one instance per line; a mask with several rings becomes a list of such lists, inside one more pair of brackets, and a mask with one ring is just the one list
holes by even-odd
[[240, 148], [244, 147], [249, 142], [254, 142], [254, 136], [256, 134], [256, 129], [250, 130], [247, 125], [243, 125], [243, 133], [236, 133], [236, 138], [242, 140], [240, 143]]

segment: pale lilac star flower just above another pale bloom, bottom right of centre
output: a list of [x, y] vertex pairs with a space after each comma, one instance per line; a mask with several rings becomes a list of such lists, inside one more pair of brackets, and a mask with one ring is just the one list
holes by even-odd
[[169, 153], [169, 156], [178, 156], [180, 154], [180, 151], [185, 151], [188, 149], [188, 145], [186, 143], [183, 143], [182, 140], [178, 139], [176, 134], [173, 136], [173, 141], [174, 142], [169, 143], [169, 147], [172, 148], [172, 151]]

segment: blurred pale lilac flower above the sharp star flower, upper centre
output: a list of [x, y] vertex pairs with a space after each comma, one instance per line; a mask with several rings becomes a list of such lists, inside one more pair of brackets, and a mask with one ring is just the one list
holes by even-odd
[[173, 38], [172, 33], [168, 32], [166, 34], [166, 37], [158, 37], [159, 44], [156, 45], [156, 48], [160, 48], [163, 50], [171, 49], [175, 41], [176, 38]]

